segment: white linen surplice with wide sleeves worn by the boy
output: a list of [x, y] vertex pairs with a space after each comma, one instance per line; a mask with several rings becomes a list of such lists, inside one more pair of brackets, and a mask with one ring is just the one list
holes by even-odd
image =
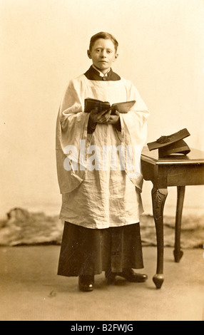
[[[120, 114], [121, 132], [113, 125], [97, 124], [93, 134], [88, 134], [89, 113], [83, 112], [85, 98], [111, 104], [129, 100], [136, 100], [136, 103], [128, 113]], [[141, 150], [146, 143], [148, 115], [148, 108], [136, 87], [124, 78], [95, 81], [83, 74], [69, 82], [56, 125], [61, 219], [92, 229], [139, 222], [143, 212]], [[133, 148], [135, 170], [129, 170], [126, 164], [121, 168], [119, 163], [113, 168], [106, 150], [119, 147], [124, 150]], [[81, 154], [82, 150], [85, 156]], [[116, 155], [119, 159], [119, 150]], [[91, 168], [93, 164], [95, 169]]]

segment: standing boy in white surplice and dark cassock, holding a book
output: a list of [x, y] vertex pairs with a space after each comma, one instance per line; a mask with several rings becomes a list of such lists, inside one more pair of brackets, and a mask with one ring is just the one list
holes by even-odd
[[[94, 275], [102, 271], [109, 284], [116, 275], [130, 282], [147, 279], [133, 269], [143, 268], [138, 222], [148, 109], [133, 83], [111, 68], [118, 58], [116, 38], [96, 33], [88, 58], [91, 68], [66, 89], [56, 128], [60, 217], [65, 221], [58, 274], [79, 277], [83, 292], [93, 291]], [[136, 103], [128, 113], [110, 108], [84, 113], [86, 98]]]

